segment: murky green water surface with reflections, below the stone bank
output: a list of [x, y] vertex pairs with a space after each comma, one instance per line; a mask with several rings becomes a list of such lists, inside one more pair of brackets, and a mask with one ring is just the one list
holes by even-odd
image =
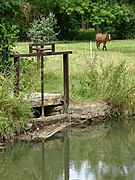
[[0, 180], [69, 179], [135, 180], [135, 127], [101, 136], [68, 130], [42, 143], [14, 142], [0, 154]]

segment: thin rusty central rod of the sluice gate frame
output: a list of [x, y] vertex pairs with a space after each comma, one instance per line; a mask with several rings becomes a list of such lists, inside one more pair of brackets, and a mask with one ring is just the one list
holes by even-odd
[[42, 114], [41, 116], [44, 116], [44, 57], [41, 56], [41, 108], [42, 108]]

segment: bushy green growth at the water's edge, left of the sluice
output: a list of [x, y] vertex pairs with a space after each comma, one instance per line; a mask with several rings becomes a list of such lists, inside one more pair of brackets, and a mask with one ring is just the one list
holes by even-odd
[[[12, 73], [11, 73], [12, 74]], [[12, 135], [20, 131], [32, 117], [30, 105], [23, 96], [13, 96], [14, 73], [2, 78], [0, 90], [0, 135]]]

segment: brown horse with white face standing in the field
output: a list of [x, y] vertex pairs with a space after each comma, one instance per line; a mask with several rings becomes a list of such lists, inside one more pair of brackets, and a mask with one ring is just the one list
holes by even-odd
[[108, 33], [104, 33], [104, 34], [101, 34], [101, 33], [97, 33], [96, 34], [96, 45], [97, 45], [97, 49], [100, 48], [100, 44], [103, 43], [103, 50], [107, 50], [106, 49], [106, 43], [107, 41], [110, 41], [110, 34]]

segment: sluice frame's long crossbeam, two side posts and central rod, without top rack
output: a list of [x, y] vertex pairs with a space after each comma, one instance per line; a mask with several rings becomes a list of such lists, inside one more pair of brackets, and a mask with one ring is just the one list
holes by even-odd
[[72, 51], [62, 51], [62, 52], [37, 52], [37, 53], [30, 53], [30, 54], [14, 54], [11, 57], [14, 58], [14, 66], [16, 71], [15, 76], [15, 87], [14, 87], [14, 94], [19, 94], [19, 75], [20, 75], [20, 57], [34, 57], [40, 56], [41, 57], [41, 102], [42, 102], [42, 114], [44, 116], [44, 56], [51, 56], [51, 55], [63, 55], [63, 77], [64, 77], [64, 112], [68, 112], [69, 106], [69, 73], [68, 73], [68, 54], [72, 54]]

